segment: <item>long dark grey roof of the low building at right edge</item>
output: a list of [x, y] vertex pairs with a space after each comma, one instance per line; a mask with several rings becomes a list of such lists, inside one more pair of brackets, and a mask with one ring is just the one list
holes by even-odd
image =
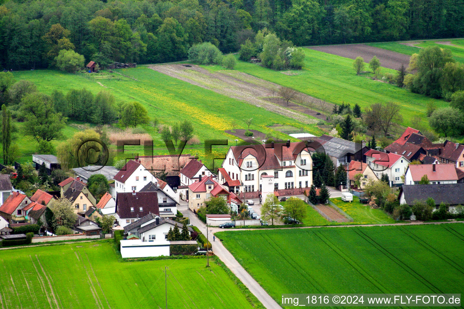
[[450, 205], [464, 204], [464, 183], [445, 183], [445, 184], [412, 184], [403, 185], [400, 189], [404, 194], [406, 203], [412, 205], [414, 200], [426, 200], [429, 197], [439, 205], [445, 202]]

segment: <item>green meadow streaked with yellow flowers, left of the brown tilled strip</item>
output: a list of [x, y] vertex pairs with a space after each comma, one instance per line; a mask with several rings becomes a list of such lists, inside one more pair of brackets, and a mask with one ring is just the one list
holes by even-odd
[[[206, 139], [227, 139], [229, 145], [235, 145], [236, 137], [224, 132], [224, 130], [232, 129], [234, 120], [237, 122], [237, 128], [246, 128], [243, 119], [252, 117], [251, 129], [265, 133], [271, 132], [285, 138], [289, 137], [267, 126], [282, 124], [297, 128], [303, 127], [315, 135], [322, 133], [315, 125], [303, 124], [274, 114], [263, 108], [169, 77], [146, 66], [118, 71], [132, 78], [118, 74], [102, 78], [98, 75], [74, 75], [55, 70], [19, 71], [13, 74], [16, 80], [30, 80], [37, 85], [39, 91], [48, 94], [54, 89], [66, 93], [72, 88], [87, 88], [94, 94], [101, 90], [110, 91], [117, 101], [139, 101], [147, 108], [150, 119], [156, 118], [161, 124], [173, 125], [185, 119], [191, 120], [195, 130], [194, 134], [200, 139], [200, 144], [187, 145], [183, 153], [192, 153], [204, 159], [204, 140]], [[154, 153], [167, 154], [168, 151], [161, 140], [161, 135], [151, 126], [142, 127], [153, 136]], [[64, 133], [70, 137], [73, 132], [75, 132], [74, 128], [68, 127]], [[25, 157], [22, 159], [30, 159], [30, 154], [35, 151], [35, 148], [34, 141], [24, 140], [21, 150]], [[125, 149], [129, 152], [143, 153], [142, 146], [125, 147]], [[227, 149], [228, 146], [213, 146], [213, 157], [224, 157]]]

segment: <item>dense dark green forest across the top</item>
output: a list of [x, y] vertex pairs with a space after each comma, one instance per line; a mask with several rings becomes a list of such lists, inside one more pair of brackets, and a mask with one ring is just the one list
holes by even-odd
[[296, 46], [464, 35], [463, 0], [0, 0], [0, 65], [159, 63], [211, 42], [224, 53], [267, 28]]

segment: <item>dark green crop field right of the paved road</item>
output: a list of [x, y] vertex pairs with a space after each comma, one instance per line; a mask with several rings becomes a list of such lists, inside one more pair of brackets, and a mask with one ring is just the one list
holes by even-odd
[[285, 293], [464, 293], [460, 223], [215, 236], [278, 303]]

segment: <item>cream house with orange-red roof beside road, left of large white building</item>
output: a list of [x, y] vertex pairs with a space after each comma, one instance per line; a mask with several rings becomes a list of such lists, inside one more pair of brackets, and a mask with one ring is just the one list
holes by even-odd
[[232, 211], [238, 210], [238, 205], [242, 200], [235, 193], [229, 191], [226, 187], [220, 185], [212, 177], [200, 175], [199, 179], [188, 186], [188, 208], [192, 211], [197, 211], [200, 207], [205, 206], [205, 202], [212, 197], [222, 197], [226, 200]]

